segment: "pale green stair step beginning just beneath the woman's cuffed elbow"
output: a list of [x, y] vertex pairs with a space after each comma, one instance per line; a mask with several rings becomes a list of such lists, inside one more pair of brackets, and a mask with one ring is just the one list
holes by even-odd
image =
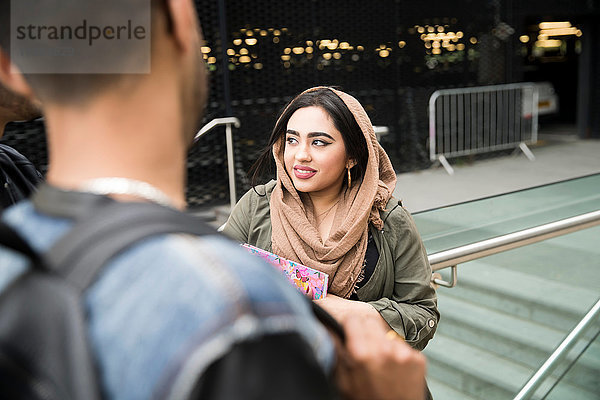
[[[534, 370], [492, 352], [438, 334], [425, 349], [430, 376], [481, 399], [510, 399]], [[550, 380], [544, 385], [550, 385]], [[598, 399], [597, 394], [561, 382], [549, 399]]]

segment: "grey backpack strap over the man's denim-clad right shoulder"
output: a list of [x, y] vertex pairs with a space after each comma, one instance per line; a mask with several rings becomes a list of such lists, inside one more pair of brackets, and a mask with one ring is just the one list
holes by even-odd
[[218, 234], [198, 218], [167, 207], [111, 201], [78, 219], [46, 253], [45, 262], [83, 291], [111, 258], [143, 239], [168, 233]]

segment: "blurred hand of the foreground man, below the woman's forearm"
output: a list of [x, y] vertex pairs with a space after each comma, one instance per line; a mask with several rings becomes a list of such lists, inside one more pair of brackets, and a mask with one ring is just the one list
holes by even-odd
[[344, 398], [423, 400], [425, 356], [376, 317], [348, 316], [341, 322], [346, 344], [337, 343], [335, 378]]

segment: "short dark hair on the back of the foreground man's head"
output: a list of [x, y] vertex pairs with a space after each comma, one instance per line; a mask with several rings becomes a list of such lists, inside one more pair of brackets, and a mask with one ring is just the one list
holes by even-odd
[[[32, 0], [28, 0], [32, 1]], [[38, 15], [51, 15], [53, 21], [59, 21], [60, 25], [76, 26], [81, 22], [81, 15], [70, 12], [70, 6], [82, 5], [85, 0], [37, 0], [36, 8], [32, 13]], [[101, 10], [93, 10], [93, 16], [101, 24], [110, 25], [114, 21], [123, 19], [123, 16], [135, 16], [142, 7], [151, 6], [152, 37], [156, 34], [155, 27], [158, 18], [166, 17], [167, 29], [170, 29], [170, 15], [167, 11], [165, 0], [127, 0], [121, 1], [119, 7], [102, 7]], [[92, 11], [90, 11], [92, 12]], [[10, 0], [0, 0], [0, 48], [10, 57], [10, 33], [11, 33], [11, 6]], [[104, 26], [104, 25], [102, 25]], [[151, 37], [151, 39], [152, 39]], [[108, 42], [108, 41], [107, 41]], [[154, 41], [152, 41], [154, 42]], [[98, 46], [98, 57], [110, 59], [114, 65], [127, 65], [136, 62], [142, 52], [150, 52], [151, 49], [144, 46], [136, 46], [134, 51], [119, 51], [111, 43]], [[68, 63], [68, 58], [63, 58]], [[61, 62], [61, 61], [58, 61]], [[60, 70], [60, 64], [56, 67]], [[24, 77], [33, 88], [42, 102], [51, 100], [62, 104], [81, 104], [94, 94], [105, 91], [112, 86], [121, 84], [124, 79], [135, 79], [139, 74], [125, 73], [27, 73], [22, 65], [17, 65], [24, 72]], [[25, 66], [26, 67], [26, 66]]]

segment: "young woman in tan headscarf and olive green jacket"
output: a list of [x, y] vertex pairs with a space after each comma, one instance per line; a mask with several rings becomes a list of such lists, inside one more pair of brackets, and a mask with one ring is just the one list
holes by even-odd
[[[271, 157], [277, 179], [256, 185]], [[431, 267], [360, 103], [327, 87], [301, 93], [251, 173], [224, 233], [329, 274], [318, 302], [334, 317], [375, 314], [423, 349], [439, 319]]]

